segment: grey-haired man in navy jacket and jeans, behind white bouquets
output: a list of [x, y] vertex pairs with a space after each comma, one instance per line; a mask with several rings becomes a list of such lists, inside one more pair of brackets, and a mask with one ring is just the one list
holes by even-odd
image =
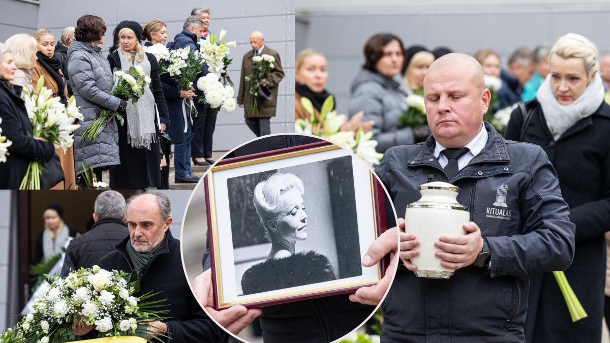
[[[199, 50], [199, 39], [201, 35], [206, 32], [205, 24], [203, 20], [199, 19], [198, 16], [189, 16], [187, 20], [184, 21], [184, 29], [182, 32], [174, 37], [174, 41], [168, 44], [168, 48], [171, 50], [181, 49], [188, 46], [192, 51]], [[209, 73], [207, 70], [206, 63], [203, 63], [201, 66], [200, 76], [206, 75]], [[161, 77], [161, 81], [168, 85], [174, 85], [176, 89], [179, 88], [178, 83], [171, 79], [169, 74], [163, 74]], [[196, 88], [196, 81], [193, 82], [193, 88]], [[165, 87], [163, 87], [165, 91]], [[186, 99], [192, 99], [193, 103], [196, 102], [196, 95], [199, 94], [197, 90], [194, 91], [195, 94], [189, 95]], [[166, 96], [167, 98], [167, 96]], [[168, 133], [170, 134], [171, 142], [174, 143], [174, 168], [176, 170], [175, 179], [176, 183], [196, 183], [199, 181], [199, 178], [193, 174], [190, 168], [190, 157], [191, 157], [191, 148], [190, 144], [193, 140], [193, 129], [191, 127], [190, 118], [188, 115], [183, 113], [182, 109], [182, 98], [176, 97], [173, 101], [168, 99], [167, 107], [170, 111], [170, 120], [172, 125], [168, 126]], [[188, 107], [188, 106], [187, 106]], [[188, 109], [186, 109], [188, 111]], [[203, 110], [199, 108], [199, 110]]]

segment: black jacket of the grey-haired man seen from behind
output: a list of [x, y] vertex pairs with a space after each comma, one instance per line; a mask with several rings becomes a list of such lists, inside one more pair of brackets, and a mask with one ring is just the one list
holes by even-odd
[[70, 269], [91, 268], [99, 259], [114, 251], [115, 245], [129, 236], [129, 229], [121, 218], [101, 218], [91, 231], [70, 241], [63, 259], [62, 278]]

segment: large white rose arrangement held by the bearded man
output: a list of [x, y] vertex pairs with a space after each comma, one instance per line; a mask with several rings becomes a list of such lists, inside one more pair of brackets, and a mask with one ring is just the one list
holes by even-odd
[[[62, 279], [49, 276], [34, 300], [34, 313], [0, 336], [2, 343], [62, 343], [74, 340], [72, 324], [95, 325], [98, 337], [137, 336], [146, 339], [152, 331], [146, 322], [164, 320], [167, 310], [160, 301], [143, 302], [155, 294], [133, 294], [140, 290], [135, 272], [109, 272], [94, 265], [81, 268]], [[161, 300], [163, 301], [163, 300]], [[161, 339], [154, 336], [161, 342]]]

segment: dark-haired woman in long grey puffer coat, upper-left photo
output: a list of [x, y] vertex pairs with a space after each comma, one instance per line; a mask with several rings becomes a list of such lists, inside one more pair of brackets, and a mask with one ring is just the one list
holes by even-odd
[[99, 44], [104, 43], [106, 24], [94, 15], [84, 15], [76, 22], [74, 42], [68, 49], [68, 75], [73, 85], [74, 98], [81, 107], [84, 121], [74, 132], [74, 162], [76, 175], [92, 167], [98, 181], [102, 179], [102, 168], [120, 164], [118, 154], [117, 121], [110, 120], [93, 142], [81, 140], [82, 132], [91, 125], [102, 109], [121, 112], [126, 101], [109, 95], [112, 90], [112, 71], [106, 57], [102, 56]]

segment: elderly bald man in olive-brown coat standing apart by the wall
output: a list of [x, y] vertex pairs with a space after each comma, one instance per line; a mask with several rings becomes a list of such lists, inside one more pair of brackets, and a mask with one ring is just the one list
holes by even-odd
[[[242, 60], [242, 74], [240, 76], [239, 91], [237, 92], [237, 106], [243, 107], [243, 114], [246, 118], [246, 125], [251, 129], [256, 137], [268, 135], [271, 133], [270, 120], [275, 117], [276, 107], [278, 106], [278, 85], [284, 78], [284, 70], [282, 62], [279, 60], [277, 51], [269, 48], [265, 44], [265, 37], [260, 31], [253, 31], [250, 34], [250, 45], [252, 50], [246, 52]], [[250, 110], [250, 105], [254, 101], [254, 95], [249, 93], [251, 81], [246, 81], [245, 77], [252, 74], [252, 58], [254, 56], [270, 55], [275, 59], [273, 64], [275, 68], [271, 75], [260, 82], [261, 86], [267, 87], [272, 99], [267, 99], [264, 96], [258, 96], [258, 113], [253, 114]]]

